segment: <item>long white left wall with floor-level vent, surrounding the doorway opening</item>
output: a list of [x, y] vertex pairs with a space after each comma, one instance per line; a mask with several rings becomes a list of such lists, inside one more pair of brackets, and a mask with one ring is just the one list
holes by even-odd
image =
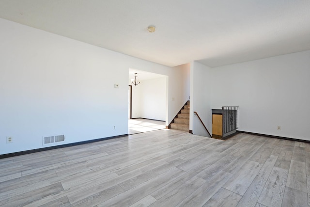
[[[46, 147], [44, 136], [75, 143], [127, 134], [130, 67], [168, 75], [171, 94], [186, 85], [176, 68], [4, 19], [0, 28], [0, 154]], [[169, 120], [175, 106], [169, 103]]]

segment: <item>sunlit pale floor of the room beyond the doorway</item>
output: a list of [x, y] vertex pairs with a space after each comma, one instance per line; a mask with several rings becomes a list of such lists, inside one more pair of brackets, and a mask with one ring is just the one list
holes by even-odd
[[164, 121], [155, 121], [150, 119], [128, 119], [129, 135], [165, 128], [166, 123]]

